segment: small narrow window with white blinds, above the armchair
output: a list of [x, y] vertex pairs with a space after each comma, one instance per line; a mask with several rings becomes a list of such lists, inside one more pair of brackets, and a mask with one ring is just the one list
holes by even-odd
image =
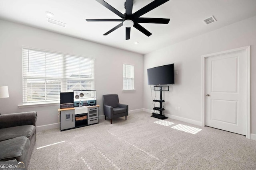
[[123, 90], [134, 90], [134, 66], [123, 64]]

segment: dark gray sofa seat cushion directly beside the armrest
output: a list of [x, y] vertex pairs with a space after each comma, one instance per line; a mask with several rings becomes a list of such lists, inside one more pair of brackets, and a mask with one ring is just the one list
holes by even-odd
[[35, 133], [36, 127], [34, 125], [22, 125], [0, 129], [0, 141], [12, 139], [15, 137], [25, 136], [30, 137]]

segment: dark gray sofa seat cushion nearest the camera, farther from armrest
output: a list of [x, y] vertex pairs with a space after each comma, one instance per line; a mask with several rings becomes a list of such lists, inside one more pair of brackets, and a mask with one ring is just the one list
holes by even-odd
[[22, 161], [30, 148], [30, 141], [27, 137], [16, 137], [0, 142], [0, 161], [16, 159]]

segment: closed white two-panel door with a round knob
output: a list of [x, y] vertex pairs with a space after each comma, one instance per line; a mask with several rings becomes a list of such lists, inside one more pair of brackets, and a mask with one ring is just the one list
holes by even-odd
[[246, 50], [206, 58], [206, 126], [246, 135]]

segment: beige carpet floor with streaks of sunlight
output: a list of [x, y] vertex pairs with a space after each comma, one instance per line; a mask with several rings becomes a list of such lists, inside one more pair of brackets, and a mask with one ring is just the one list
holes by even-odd
[[28, 170], [256, 170], [256, 141], [150, 113], [37, 133]]

